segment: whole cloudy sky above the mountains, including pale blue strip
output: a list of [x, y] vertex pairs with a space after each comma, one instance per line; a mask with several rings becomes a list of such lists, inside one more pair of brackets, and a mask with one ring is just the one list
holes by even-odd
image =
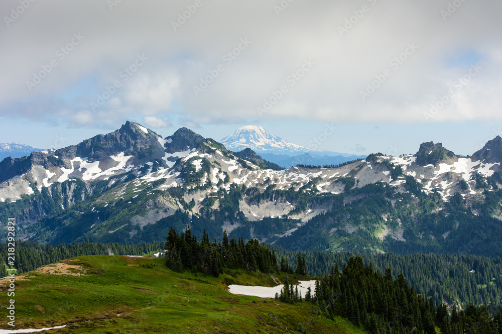
[[164, 137], [260, 125], [336, 152], [472, 154], [502, 135], [500, 13], [494, 0], [3, 0], [0, 142], [60, 148], [130, 120]]

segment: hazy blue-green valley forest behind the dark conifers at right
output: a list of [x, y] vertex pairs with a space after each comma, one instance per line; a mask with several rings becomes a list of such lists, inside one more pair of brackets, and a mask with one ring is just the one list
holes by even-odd
[[[297, 252], [271, 246], [278, 257], [284, 256], [296, 264]], [[340, 267], [351, 256], [360, 256], [364, 263], [375, 270], [385, 272], [391, 268], [394, 278], [399, 273], [418, 293], [432, 297], [435, 304], [447, 302], [475, 305], [500, 305], [502, 301], [502, 259], [479, 255], [441, 254], [375, 254], [375, 253], [327, 253], [301, 252], [311, 275], [329, 272], [331, 266]], [[474, 270], [475, 272], [471, 272]]]

